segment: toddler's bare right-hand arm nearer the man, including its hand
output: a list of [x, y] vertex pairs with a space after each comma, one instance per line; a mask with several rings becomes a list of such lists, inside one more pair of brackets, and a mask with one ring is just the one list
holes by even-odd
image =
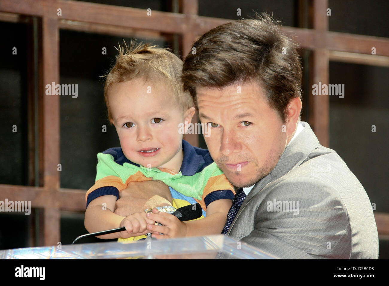
[[[151, 230], [152, 237], [157, 239], [221, 234], [231, 205], [232, 200], [229, 199], [215, 200], [208, 205], [206, 217], [195, 221], [179, 221], [171, 214], [153, 209], [152, 213], [147, 214], [146, 217], [158, 221], [163, 226], [147, 225], [147, 229]], [[164, 233], [164, 235], [159, 233]]]

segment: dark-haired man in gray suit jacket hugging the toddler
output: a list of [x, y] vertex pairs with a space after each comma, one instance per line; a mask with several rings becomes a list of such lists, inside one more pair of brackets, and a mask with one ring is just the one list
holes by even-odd
[[300, 122], [301, 64], [272, 18], [226, 23], [193, 47], [184, 89], [211, 128], [212, 158], [238, 188], [223, 232], [279, 258], [377, 259], [370, 200]]

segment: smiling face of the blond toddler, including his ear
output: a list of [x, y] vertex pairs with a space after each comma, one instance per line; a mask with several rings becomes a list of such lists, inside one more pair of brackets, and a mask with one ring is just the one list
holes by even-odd
[[195, 109], [183, 112], [167, 92], [164, 84], [134, 79], [113, 84], [108, 100], [128, 160], [179, 172], [183, 158], [179, 124], [190, 123]]

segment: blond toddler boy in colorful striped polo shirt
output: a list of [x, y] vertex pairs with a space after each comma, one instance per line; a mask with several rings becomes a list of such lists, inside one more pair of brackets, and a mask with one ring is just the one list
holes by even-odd
[[[182, 89], [181, 68], [182, 61], [168, 49], [132, 43], [124, 52], [119, 47], [116, 64], [106, 76], [104, 96], [121, 147], [97, 155], [96, 182], [86, 193], [84, 223], [89, 232], [121, 226], [126, 231], [100, 238], [139, 240], [148, 232], [169, 238], [223, 230], [235, 192], [209, 152], [182, 139], [179, 126], [184, 124], [187, 130], [195, 108]], [[119, 191], [132, 181], [146, 180], [160, 180], [170, 187], [172, 208], [156, 205], [168, 212], [115, 214]], [[200, 219], [181, 222], [170, 214], [196, 202], [203, 209]]]

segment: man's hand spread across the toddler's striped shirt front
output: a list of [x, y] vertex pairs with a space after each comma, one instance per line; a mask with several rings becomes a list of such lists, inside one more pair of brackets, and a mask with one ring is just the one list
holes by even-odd
[[152, 207], [172, 206], [170, 189], [161, 181], [130, 182], [119, 192], [115, 214], [129, 216]]

